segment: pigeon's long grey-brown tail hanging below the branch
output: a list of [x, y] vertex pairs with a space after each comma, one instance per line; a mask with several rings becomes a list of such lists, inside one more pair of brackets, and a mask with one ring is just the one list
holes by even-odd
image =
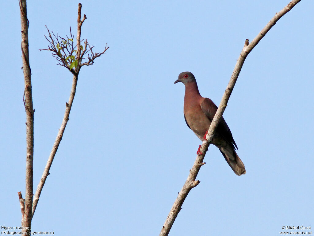
[[219, 150], [236, 175], [244, 175], [246, 173], [244, 164], [234, 149], [219, 148]]

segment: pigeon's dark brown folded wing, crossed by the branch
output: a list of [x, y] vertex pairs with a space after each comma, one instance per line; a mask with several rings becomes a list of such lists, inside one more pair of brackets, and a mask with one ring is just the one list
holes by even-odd
[[[209, 98], [205, 98], [203, 102], [201, 103], [201, 108], [204, 112], [204, 114], [207, 116], [207, 118], [212, 121], [214, 118], [214, 115], [216, 114], [216, 111], [218, 107], [213, 103], [212, 100]], [[219, 132], [219, 134], [225, 138], [228, 142], [232, 143], [236, 149], [238, 147], [236, 146], [236, 142], [234, 141], [232, 137], [232, 133], [224, 119], [224, 117], [221, 117], [216, 132]]]

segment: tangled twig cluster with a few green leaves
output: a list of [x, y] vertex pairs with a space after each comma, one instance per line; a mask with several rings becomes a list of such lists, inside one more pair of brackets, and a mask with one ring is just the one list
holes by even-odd
[[[48, 28], [47, 31], [49, 36], [46, 37], [45, 35], [45, 37], [50, 45], [48, 45], [48, 48], [40, 49], [40, 51], [51, 51], [52, 56], [59, 61], [57, 65], [64, 66], [69, 71], [71, 71], [73, 75], [77, 75], [80, 67], [82, 67], [83, 65], [92, 65], [94, 63], [94, 60], [104, 54], [109, 48], [107, 47], [106, 43], [105, 50], [102, 53], [94, 53], [94, 46], [90, 46], [87, 42], [87, 39], [85, 41], [81, 40], [78, 43], [74, 43], [74, 36], [72, 35], [71, 27], [70, 37], [66, 36], [66, 38], [58, 36], [58, 33], [57, 35], [55, 35], [53, 31], [51, 31], [51, 35]], [[83, 41], [84, 46], [81, 45], [81, 42]], [[87, 60], [83, 62], [84, 59]]]

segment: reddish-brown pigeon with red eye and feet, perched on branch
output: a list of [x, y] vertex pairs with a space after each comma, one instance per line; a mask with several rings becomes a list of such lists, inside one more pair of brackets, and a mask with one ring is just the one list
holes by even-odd
[[[187, 126], [196, 134], [196, 136], [202, 141], [206, 139], [206, 134], [211, 121], [216, 114], [218, 107], [209, 98], [203, 98], [196, 83], [196, 79], [191, 72], [180, 73], [175, 84], [182, 82], [185, 85], [184, 95], [184, 119]], [[245, 174], [245, 167], [241, 159], [236, 153], [238, 149], [236, 142], [234, 141], [231, 131], [223, 117], [221, 117], [218, 127], [216, 129], [212, 142], [217, 148], [219, 148], [225, 160], [236, 173], [236, 175]], [[203, 154], [198, 148], [197, 154]]]

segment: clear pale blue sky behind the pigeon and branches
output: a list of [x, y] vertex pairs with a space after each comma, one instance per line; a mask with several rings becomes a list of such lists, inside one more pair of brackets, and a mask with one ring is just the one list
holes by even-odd
[[[182, 71], [217, 105], [244, 41], [288, 0], [81, 1], [82, 38], [107, 53], [83, 67], [33, 231], [158, 235], [201, 141], [183, 117]], [[61, 125], [71, 74], [46, 48], [45, 25], [76, 28], [77, 1], [28, 1], [35, 108], [34, 190]], [[170, 235], [279, 235], [314, 227], [314, 8], [303, 0], [247, 57], [224, 118], [246, 175], [210, 146]], [[18, 1], [1, 1], [0, 224], [19, 226], [25, 196], [24, 80]]]

